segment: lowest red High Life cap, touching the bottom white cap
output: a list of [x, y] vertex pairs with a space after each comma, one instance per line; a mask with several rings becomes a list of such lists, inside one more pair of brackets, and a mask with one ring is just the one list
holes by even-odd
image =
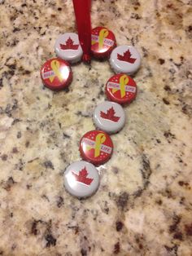
[[90, 130], [81, 138], [81, 157], [96, 166], [104, 164], [111, 157], [113, 143], [102, 130]]

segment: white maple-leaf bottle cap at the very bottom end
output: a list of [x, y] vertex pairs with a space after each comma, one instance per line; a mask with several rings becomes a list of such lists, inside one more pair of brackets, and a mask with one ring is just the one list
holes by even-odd
[[64, 186], [72, 196], [92, 196], [99, 186], [98, 170], [87, 161], [76, 161], [64, 172]]

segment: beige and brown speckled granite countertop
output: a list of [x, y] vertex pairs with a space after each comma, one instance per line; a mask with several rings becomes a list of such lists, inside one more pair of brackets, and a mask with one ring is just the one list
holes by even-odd
[[55, 39], [76, 31], [72, 1], [1, 0], [0, 11], [0, 255], [192, 255], [191, 0], [93, 1], [93, 27], [136, 46], [142, 68], [98, 192], [81, 201], [63, 172], [112, 71], [76, 64], [68, 90], [44, 88]]

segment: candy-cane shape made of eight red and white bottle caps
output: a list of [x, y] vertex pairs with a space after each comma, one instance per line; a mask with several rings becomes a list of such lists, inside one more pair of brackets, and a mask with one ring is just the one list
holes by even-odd
[[[41, 67], [41, 80], [51, 90], [63, 90], [72, 82], [71, 64], [80, 62], [83, 51], [76, 33], [64, 33], [55, 42], [57, 57]], [[129, 75], [136, 73], [141, 56], [133, 46], [116, 46], [116, 37], [109, 29], [97, 27], [91, 31], [91, 54], [95, 59], [109, 59], [115, 71], [106, 83], [106, 101], [94, 110], [96, 130], [82, 136], [80, 153], [83, 161], [72, 163], [64, 172], [64, 186], [76, 197], [88, 197], [97, 191], [99, 174], [95, 166], [107, 162], [113, 152], [110, 134], [124, 127], [122, 105], [130, 104], [137, 95], [137, 85]]]

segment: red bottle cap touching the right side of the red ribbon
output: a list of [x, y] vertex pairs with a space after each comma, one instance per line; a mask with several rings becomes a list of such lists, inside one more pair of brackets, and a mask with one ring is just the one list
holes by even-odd
[[114, 33], [104, 27], [97, 27], [91, 31], [91, 53], [95, 58], [108, 58], [116, 47]]

